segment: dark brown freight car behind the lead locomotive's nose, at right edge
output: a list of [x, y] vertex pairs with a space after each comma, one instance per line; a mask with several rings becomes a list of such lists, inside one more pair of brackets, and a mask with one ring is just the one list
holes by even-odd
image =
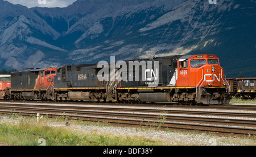
[[233, 96], [251, 99], [256, 97], [256, 77], [230, 78], [226, 80], [229, 82], [230, 93]]

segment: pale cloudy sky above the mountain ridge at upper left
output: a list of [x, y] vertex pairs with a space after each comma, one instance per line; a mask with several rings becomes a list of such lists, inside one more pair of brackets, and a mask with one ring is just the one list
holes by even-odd
[[76, 0], [5, 0], [14, 5], [20, 4], [26, 7], [67, 7]]

